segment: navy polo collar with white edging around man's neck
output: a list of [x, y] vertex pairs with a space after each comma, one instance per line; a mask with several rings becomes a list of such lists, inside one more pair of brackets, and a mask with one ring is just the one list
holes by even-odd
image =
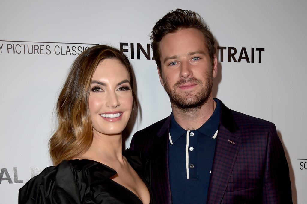
[[[220, 110], [221, 105], [220, 101], [216, 100], [216, 108], [211, 115], [211, 117], [207, 120], [206, 123], [204, 123], [200, 128], [197, 130], [192, 131], [198, 131], [201, 134], [207, 135], [208, 137], [213, 137], [213, 135], [216, 133], [216, 130], [219, 128], [219, 122], [220, 122]], [[176, 142], [183, 134], [185, 134], [187, 130], [183, 129], [175, 120], [173, 113], [171, 114], [171, 127], [170, 127], [170, 135], [172, 138], [173, 143]]]

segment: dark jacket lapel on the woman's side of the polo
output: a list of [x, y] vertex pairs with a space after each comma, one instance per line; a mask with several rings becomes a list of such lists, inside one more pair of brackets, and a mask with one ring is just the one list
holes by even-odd
[[168, 142], [171, 117], [169, 116], [155, 138], [152, 146], [151, 165], [153, 191], [159, 195], [157, 203], [172, 203], [169, 184]]

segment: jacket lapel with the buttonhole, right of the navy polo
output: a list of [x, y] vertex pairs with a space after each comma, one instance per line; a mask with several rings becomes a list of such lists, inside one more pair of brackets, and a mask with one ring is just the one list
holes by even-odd
[[216, 138], [216, 148], [209, 181], [208, 204], [221, 203], [241, 143], [241, 138], [235, 135], [239, 127], [232, 117], [231, 110], [221, 101], [220, 103], [220, 125]]

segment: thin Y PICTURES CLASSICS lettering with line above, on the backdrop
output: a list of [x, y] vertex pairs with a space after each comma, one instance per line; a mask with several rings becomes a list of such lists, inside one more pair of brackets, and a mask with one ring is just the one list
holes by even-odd
[[98, 45], [89, 43], [55, 43], [0, 40], [0, 54], [15, 55], [80, 55], [87, 48]]

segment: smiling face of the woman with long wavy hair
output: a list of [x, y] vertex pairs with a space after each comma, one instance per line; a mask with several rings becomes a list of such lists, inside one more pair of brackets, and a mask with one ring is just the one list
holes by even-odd
[[89, 109], [94, 134], [121, 134], [132, 110], [130, 77], [117, 59], [97, 66], [91, 82]]

